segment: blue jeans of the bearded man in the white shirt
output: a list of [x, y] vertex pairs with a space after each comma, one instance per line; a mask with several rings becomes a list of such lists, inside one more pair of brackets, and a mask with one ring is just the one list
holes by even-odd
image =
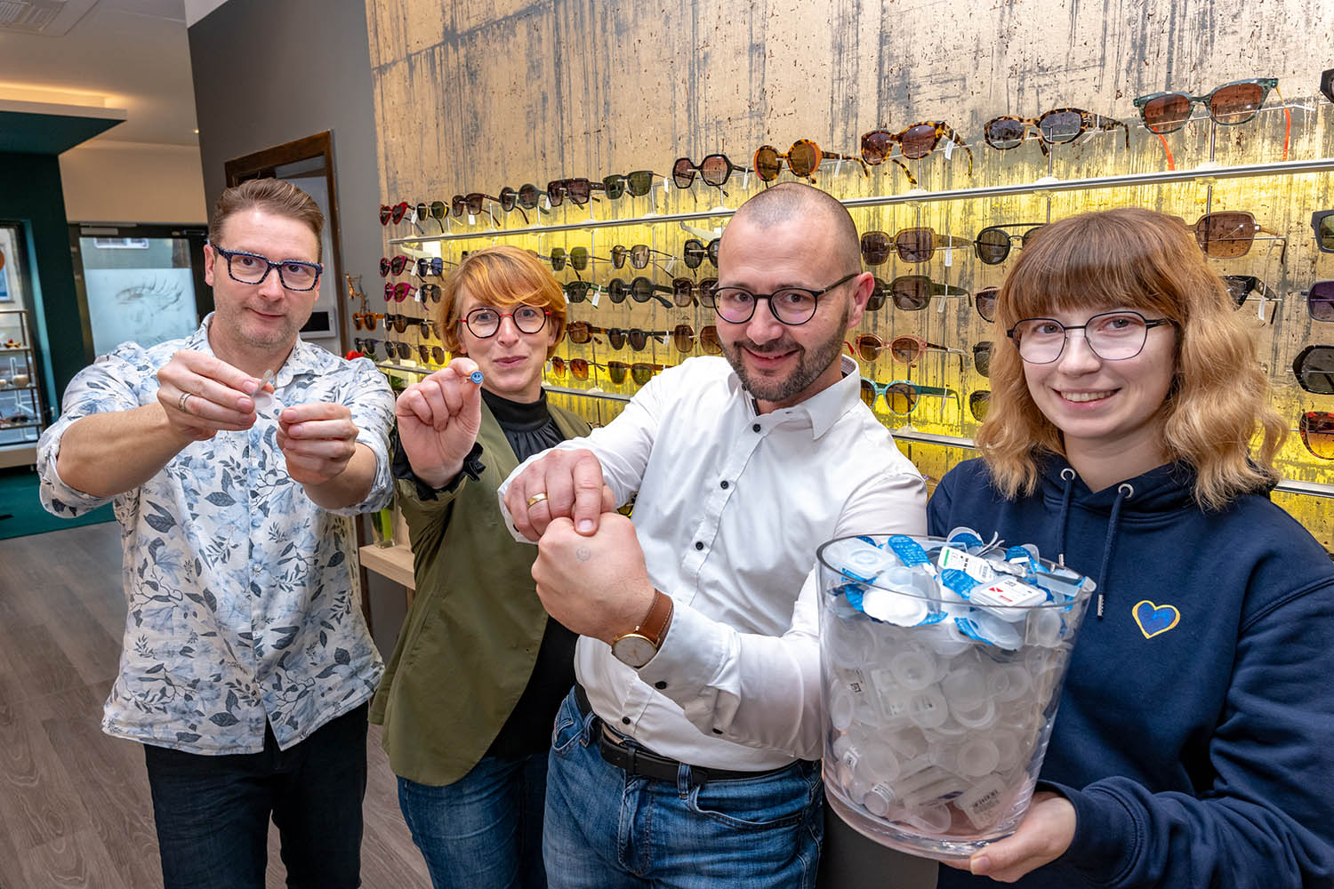
[[554, 889], [815, 885], [824, 834], [818, 764], [698, 788], [686, 765], [675, 782], [628, 777], [602, 758], [595, 724], [574, 693], [556, 713], [543, 833]]

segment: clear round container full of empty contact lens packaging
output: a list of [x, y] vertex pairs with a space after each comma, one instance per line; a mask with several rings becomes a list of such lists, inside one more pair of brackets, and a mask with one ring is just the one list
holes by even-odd
[[1013, 833], [1093, 581], [967, 528], [834, 540], [819, 573], [831, 809], [939, 860]]

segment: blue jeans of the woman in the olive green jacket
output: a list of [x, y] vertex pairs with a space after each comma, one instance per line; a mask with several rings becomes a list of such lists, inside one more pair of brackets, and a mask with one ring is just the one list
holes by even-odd
[[547, 754], [483, 757], [440, 788], [399, 778], [399, 808], [435, 889], [546, 889]]

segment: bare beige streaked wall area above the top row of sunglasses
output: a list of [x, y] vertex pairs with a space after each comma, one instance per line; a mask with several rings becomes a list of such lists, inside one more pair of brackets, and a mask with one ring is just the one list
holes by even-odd
[[[1277, 76], [1313, 95], [1322, 0], [367, 0], [382, 193], [662, 171], [875, 125], [1078, 107]], [[970, 141], [972, 141], [970, 139]], [[499, 188], [499, 184], [495, 185]]]

